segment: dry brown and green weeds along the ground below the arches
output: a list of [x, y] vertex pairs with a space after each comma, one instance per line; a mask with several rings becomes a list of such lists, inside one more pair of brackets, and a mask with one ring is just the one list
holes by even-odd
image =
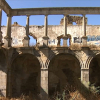
[[[55, 91], [54, 95], [50, 97], [48, 100], [100, 100], [100, 87], [95, 87], [94, 84], [89, 85], [88, 90], [86, 88], [81, 87], [82, 91], [77, 90], [77, 88], [66, 85], [63, 89], [63, 92], [60, 93]], [[5, 98], [0, 97], [0, 100], [40, 100], [33, 99], [32, 96], [21, 95], [20, 98]]]

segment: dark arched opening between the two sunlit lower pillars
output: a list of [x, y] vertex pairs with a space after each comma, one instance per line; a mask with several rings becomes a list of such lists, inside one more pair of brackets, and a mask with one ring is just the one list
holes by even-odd
[[55, 92], [62, 93], [68, 87], [67, 92], [74, 92], [73, 88], [78, 88], [80, 84], [80, 63], [78, 59], [71, 54], [56, 55], [49, 64], [49, 96], [52, 97]]

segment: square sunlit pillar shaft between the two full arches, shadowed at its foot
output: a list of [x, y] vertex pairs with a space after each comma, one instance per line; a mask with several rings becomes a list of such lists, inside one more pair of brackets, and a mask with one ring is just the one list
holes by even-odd
[[48, 100], [48, 69], [41, 69], [41, 100]]

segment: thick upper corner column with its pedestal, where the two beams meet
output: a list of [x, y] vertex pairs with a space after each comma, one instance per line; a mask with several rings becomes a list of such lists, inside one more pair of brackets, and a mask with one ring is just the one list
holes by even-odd
[[12, 23], [12, 16], [8, 15], [7, 16], [7, 31], [6, 31], [6, 36], [4, 37], [4, 46], [5, 47], [11, 47], [11, 23]]

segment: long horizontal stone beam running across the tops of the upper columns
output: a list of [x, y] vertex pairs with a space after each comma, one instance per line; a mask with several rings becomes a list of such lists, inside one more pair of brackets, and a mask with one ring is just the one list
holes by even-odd
[[12, 16], [20, 15], [100, 14], [100, 7], [56, 7], [12, 9]]

